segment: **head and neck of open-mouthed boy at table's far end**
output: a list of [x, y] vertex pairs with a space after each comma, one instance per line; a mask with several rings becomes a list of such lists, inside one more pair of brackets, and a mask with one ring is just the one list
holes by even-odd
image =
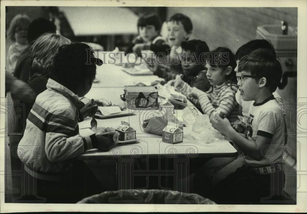
[[181, 53], [181, 42], [188, 41], [192, 34], [192, 21], [191, 19], [181, 13], [172, 15], [167, 20], [167, 41], [171, 47], [170, 57], [175, 58], [176, 53]]

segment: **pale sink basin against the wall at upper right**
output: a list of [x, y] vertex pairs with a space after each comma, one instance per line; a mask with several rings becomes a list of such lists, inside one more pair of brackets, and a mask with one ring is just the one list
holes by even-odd
[[297, 27], [288, 26], [288, 34], [283, 35], [281, 25], [262, 25], [256, 33], [256, 39], [269, 40], [275, 50], [297, 50]]

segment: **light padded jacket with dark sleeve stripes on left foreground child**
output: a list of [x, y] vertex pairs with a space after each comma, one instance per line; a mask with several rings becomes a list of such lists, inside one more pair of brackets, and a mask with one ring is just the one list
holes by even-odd
[[70, 159], [96, 148], [97, 138], [79, 135], [75, 107], [79, 97], [52, 79], [46, 86], [29, 113], [18, 156], [26, 164], [34, 161], [37, 172], [70, 172]]

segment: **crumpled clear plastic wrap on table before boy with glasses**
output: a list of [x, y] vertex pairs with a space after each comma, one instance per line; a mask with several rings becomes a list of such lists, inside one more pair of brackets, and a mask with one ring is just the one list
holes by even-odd
[[220, 132], [212, 127], [208, 115], [196, 115], [195, 111], [188, 107], [183, 111], [182, 119], [186, 126], [184, 137], [190, 135], [200, 143], [212, 143], [223, 139]]

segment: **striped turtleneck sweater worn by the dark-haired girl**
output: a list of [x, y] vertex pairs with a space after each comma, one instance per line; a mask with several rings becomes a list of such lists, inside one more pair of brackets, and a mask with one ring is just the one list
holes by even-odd
[[[178, 89], [181, 93], [188, 95], [193, 92], [194, 88], [190, 87], [187, 83], [183, 83]], [[199, 104], [203, 113], [209, 117], [214, 115], [212, 114], [214, 112], [223, 112], [230, 122], [234, 122], [238, 119], [237, 116], [239, 114], [239, 105], [235, 99], [237, 90], [237, 86], [223, 83], [214, 86], [210, 92], [200, 93], [198, 103], [194, 104]]]

